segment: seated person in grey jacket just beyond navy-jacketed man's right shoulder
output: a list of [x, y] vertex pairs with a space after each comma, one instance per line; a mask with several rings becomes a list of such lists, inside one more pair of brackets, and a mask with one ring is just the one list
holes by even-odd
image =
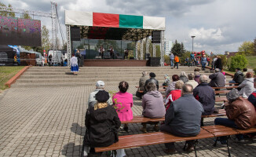
[[210, 83], [209, 86], [211, 87], [218, 87], [218, 86], [225, 86], [225, 75], [221, 73], [219, 68], [214, 70], [214, 74], [209, 76]]

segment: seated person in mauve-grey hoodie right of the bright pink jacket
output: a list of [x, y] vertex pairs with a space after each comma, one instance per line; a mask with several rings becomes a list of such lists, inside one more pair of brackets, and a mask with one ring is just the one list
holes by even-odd
[[[142, 115], [144, 117], [148, 117], [151, 119], [162, 118], [166, 114], [166, 110], [163, 104], [163, 96], [162, 94], [156, 90], [155, 83], [149, 82], [146, 86], [147, 93], [144, 94], [142, 98]], [[155, 124], [154, 130], [158, 131], [159, 122], [153, 122]], [[142, 132], [147, 132], [147, 123], [142, 123], [143, 128], [141, 129]], [[152, 122], [151, 122], [152, 124]]]

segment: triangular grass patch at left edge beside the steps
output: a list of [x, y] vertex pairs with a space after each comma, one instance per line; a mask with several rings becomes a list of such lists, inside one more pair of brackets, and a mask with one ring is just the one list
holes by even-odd
[[0, 66], [0, 90], [8, 88], [7, 86], [5, 86], [5, 82], [8, 82], [9, 79], [13, 78], [13, 76], [16, 75], [16, 73], [23, 68], [24, 66]]

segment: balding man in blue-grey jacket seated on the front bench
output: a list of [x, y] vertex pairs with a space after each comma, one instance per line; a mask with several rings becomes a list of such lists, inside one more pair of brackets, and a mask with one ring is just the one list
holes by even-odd
[[[166, 111], [165, 122], [160, 130], [172, 133], [178, 137], [195, 137], [200, 132], [200, 119], [203, 113], [202, 104], [193, 97], [193, 86], [184, 84], [181, 89], [182, 96], [170, 104]], [[191, 152], [194, 141], [187, 141], [186, 151]], [[174, 143], [165, 144], [164, 152], [176, 152]]]

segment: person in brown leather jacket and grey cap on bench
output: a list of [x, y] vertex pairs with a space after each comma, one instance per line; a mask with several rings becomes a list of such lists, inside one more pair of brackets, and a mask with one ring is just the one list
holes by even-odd
[[[217, 118], [215, 125], [234, 127], [247, 130], [256, 124], [256, 112], [250, 101], [239, 97], [237, 89], [232, 89], [227, 94], [228, 103], [225, 103], [225, 111], [228, 119]], [[216, 140], [217, 141], [217, 140]], [[221, 144], [226, 144], [225, 137], [220, 137]], [[243, 141], [243, 135], [236, 135], [236, 141]]]

